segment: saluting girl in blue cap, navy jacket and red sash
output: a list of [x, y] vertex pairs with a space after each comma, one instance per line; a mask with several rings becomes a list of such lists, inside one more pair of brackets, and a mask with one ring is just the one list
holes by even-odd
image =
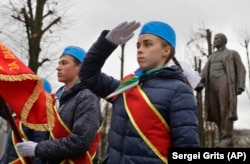
[[101, 72], [107, 58], [138, 27], [139, 22], [125, 21], [104, 30], [79, 72], [94, 93], [113, 104], [104, 164], [168, 163], [169, 148], [200, 146], [192, 81], [175, 57], [176, 36], [170, 25], [143, 25], [136, 44], [139, 69], [133, 74], [120, 81]]

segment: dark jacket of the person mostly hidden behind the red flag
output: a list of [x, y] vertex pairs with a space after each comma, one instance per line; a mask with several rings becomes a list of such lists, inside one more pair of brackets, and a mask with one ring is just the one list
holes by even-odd
[[[5, 113], [3, 112], [3, 110], [0, 110], [0, 111], [1, 111], [0, 116], [2, 116], [3, 118], [6, 119], [6, 116], [5, 116]], [[23, 124], [22, 124], [22, 131], [24, 132], [24, 134], [26, 135], [26, 137], [30, 141], [40, 142], [42, 140], [49, 139], [49, 132], [36, 131], [36, 130], [33, 130], [33, 129], [26, 127]], [[6, 147], [5, 147], [5, 152], [2, 156], [2, 159], [0, 160], [0, 163], [7, 164], [7, 163], [10, 163], [10, 162], [16, 160], [17, 158], [18, 158], [18, 156], [16, 154], [16, 150], [15, 150], [14, 144], [12, 142], [12, 134], [9, 133]], [[35, 157], [31, 160], [32, 160], [33, 164], [46, 164], [46, 161], [41, 160], [38, 157]]]

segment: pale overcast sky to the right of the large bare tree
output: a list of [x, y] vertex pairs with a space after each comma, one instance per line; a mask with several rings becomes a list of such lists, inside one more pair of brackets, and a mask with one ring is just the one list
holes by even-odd
[[[81, 46], [88, 50], [104, 29], [111, 29], [123, 21], [139, 21], [144, 24], [151, 20], [164, 21], [176, 31], [176, 56], [188, 58], [186, 43], [200, 28], [209, 28], [213, 34], [223, 32], [228, 37], [227, 47], [237, 50], [247, 66], [244, 48], [240, 46], [240, 33], [250, 33], [249, 0], [74, 0], [66, 17], [71, 19], [63, 32], [60, 42], [53, 48], [62, 52], [68, 45]], [[62, 23], [64, 23], [64, 18]], [[136, 40], [139, 30], [125, 47], [125, 72], [137, 69]], [[58, 57], [60, 55], [58, 54]], [[103, 71], [120, 78], [120, 47], [107, 60]], [[195, 54], [196, 55], [196, 54]], [[197, 54], [198, 55], [198, 54]], [[56, 68], [56, 65], [53, 69]], [[56, 72], [56, 71], [55, 71]], [[247, 75], [248, 77], [248, 75]], [[56, 73], [48, 77], [54, 90], [62, 84], [57, 82]], [[249, 82], [247, 81], [248, 86]], [[239, 120], [236, 128], [250, 129], [250, 101], [246, 92], [238, 96]]]

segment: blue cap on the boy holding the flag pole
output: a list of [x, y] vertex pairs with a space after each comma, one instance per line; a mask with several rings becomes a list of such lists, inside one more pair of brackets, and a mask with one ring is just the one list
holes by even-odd
[[83, 61], [86, 52], [84, 49], [77, 46], [68, 46], [64, 49], [62, 55], [70, 55], [76, 58], [80, 63]]

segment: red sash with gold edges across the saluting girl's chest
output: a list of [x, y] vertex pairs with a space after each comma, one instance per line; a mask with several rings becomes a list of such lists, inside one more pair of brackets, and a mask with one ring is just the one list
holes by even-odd
[[125, 91], [123, 97], [125, 109], [134, 128], [156, 156], [164, 163], [168, 163], [171, 139], [164, 118], [151, 104], [140, 86]]

